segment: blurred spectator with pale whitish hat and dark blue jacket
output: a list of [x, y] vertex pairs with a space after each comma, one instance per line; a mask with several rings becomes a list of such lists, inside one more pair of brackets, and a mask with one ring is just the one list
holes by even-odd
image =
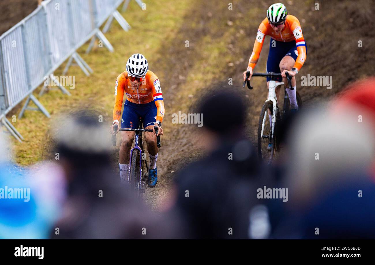
[[273, 238], [375, 238], [374, 128], [329, 104], [300, 115], [289, 135], [290, 196], [271, 208]]

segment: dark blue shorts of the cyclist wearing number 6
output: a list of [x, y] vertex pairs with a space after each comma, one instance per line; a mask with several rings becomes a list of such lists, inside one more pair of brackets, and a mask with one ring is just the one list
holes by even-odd
[[[274, 45], [272, 43], [276, 42]], [[272, 47], [275, 46], [275, 47]], [[281, 73], [280, 71], [280, 61], [285, 56], [293, 57], [294, 61], [297, 60], [298, 52], [296, 41], [291, 42], [279, 42], [271, 38], [270, 41], [270, 52], [268, 53], [267, 59], [267, 73], [274, 72], [274, 73]], [[306, 55], [307, 55], [307, 46], [306, 46]], [[278, 82], [281, 82], [282, 77], [278, 76], [275, 78]], [[267, 82], [270, 81], [271, 78], [267, 77]]]

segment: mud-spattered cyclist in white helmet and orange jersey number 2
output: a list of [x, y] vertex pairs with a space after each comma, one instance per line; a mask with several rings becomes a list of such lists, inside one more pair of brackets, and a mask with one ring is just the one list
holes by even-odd
[[[121, 128], [139, 128], [142, 118], [143, 128], [152, 129], [153, 133], [145, 133], [147, 152], [150, 156], [148, 167], [148, 186], [153, 188], [157, 183], [156, 160], [158, 147], [154, 125], [159, 129], [157, 135], [163, 134], [161, 122], [164, 117], [164, 103], [160, 82], [156, 74], [148, 70], [148, 63], [142, 54], [133, 54], [126, 63], [126, 71], [118, 75], [115, 83], [115, 105], [113, 108], [113, 127], [119, 125], [124, 94], [126, 101], [121, 118]], [[119, 164], [120, 178], [125, 182], [129, 173], [130, 149], [133, 144], [134, 132], [122, 131]]]

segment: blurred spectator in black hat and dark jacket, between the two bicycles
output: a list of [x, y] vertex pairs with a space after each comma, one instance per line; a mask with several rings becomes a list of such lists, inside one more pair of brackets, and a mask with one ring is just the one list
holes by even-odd
[[[249, 238], [249, 214], [260, 204], [260, 165], [244, 135], [245, 105], [235, 91], [216, 91], [203, 98], [197, 113], [203, 114], [199, 134], [207, 156], [176, 177], [174, 210], [188, 238]], [[266, 238], [267, 231], [263, 226], [258, 235]]]

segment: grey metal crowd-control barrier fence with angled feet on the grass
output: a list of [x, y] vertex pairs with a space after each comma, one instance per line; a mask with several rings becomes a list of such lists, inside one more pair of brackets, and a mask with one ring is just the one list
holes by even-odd
[[[67, 59], [62, 75], [65, 75], [73, 60], [89, 76], [93, 70], [80, 57], [77, 49], [91, 39], [89, 52], [96, 38], [113, 52], [111, 43], [99, 29], [104, 26], [106, 33], [116, 19], [128, 31], [129, 24], [117, 11], [124, 3], [123, 11], [130, 0], [45, 0], [30, 15], [0, 36], [0, 120], [18, 141], [23, 137], [6, 119], [6, 114], [27, 98], [18, 118], [25, 110], [40, 110], [47, 117], [48, 111], [32, 94], [46, 76], [51, 76], [60, 90], [69, 91], [58, 83], [54, 71]], [[135, 0], [142, 8], [141, 0]], [[46, 87], [40, 91], [40, 95]], [[33, 101], [37, 108], [30, 108]]]

